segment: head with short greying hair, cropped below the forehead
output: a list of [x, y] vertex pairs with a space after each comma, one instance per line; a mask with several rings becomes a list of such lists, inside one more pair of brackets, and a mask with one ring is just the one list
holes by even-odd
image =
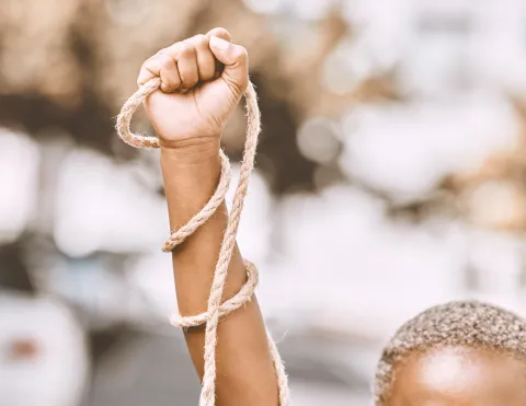
[[405, 323], [376, 371], [377, 406], [526, 405], [526, 321], [481, 302]]

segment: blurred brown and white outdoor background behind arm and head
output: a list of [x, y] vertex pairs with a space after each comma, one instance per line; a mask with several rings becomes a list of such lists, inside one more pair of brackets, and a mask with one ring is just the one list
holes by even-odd
[[147, 57], [215, 26], [260, 95], [239, 244], [296, 404], [368, 404], [432, 304], [526, 314], [524, 1], [1, 0], [2, 406], [197, 404], [158, 154], [113, 125]]

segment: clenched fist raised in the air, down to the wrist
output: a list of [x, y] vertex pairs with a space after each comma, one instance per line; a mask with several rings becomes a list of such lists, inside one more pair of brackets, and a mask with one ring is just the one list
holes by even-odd
[[214, 28], [161, 49], [140, 69], [137, 84], [160, 77], [146, 112], [163, 148], [218, 147], [229, 114], [249, 83], [247, 50]]

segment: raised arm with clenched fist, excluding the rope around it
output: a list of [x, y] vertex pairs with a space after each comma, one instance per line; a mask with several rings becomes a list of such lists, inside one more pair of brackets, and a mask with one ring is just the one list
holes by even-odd
[[[153, 76], [162, 92], [153, 93], [147, 112], [158, 132], [161, 169], [172, 230], [186, 223], [208, 201], [219, 178], [219, 139], [229, 113], [248, 83], [244, 49], [216, 28], [161, 50], [142, 66], [139, 84]], [[225, 65], [220, 78], [218, 69]], [[197, 85], [196, 85], [197, 84]], [[184, 90], [183, 93], [180, 91]], [[180, 313], [206, 311], [216, 259], [228, 220], [225, 205], [173, 252]], [[224, 300], [245, 281], [245, 269], [236, 247], [228, 271]], [[185, 332], [194, 366], [203, 378], [204, 328]], [[277, 384], [263, 318], [253, 300], [221, 320], [217, 347], [219, 405], [277, 405]]]

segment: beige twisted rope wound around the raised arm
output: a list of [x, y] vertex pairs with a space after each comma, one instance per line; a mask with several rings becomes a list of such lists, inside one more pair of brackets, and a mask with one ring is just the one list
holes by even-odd
[[[146, 97], [159, 89], [161, 85], [160, 78], [155, 78], [145, 83], [128, 101], [124, 104], [121, 114], [117, 116], [116, 129], [118, 136], [124, 142], [135, 148], [159, 148], [159, 140], [156, 137], [133, 134], [129, 125], [135, 111], [142, 104]], [[205, 333], [205, 373], [203, 376], [203, 390], [201, 392], [199, 406], [214, 406], [216, 403], [216, 345], [217, 345], [217, 327], [219, 318], [239, 309], [249, 302], [254, 293], [258, 285], [258, 270], [245, 260], [248, 280], [241, 290], [230, 300], [221, 304], [222, 291], [228, 272], [228, 265], [232, 256], [236, 245], [236, 235], [238, 233], [243, 201], [249, 186], [250, 174], [254, 166], [255, 148], [258, 144], [258, 136], [261, 131], [260, 108], [258, 107], [258, 96], [251, 82], [244, 92], [247, 101], [247, 141], [244, 144], [243, 160], [239, 175], [238, 186], [233, 196], [232, 210], [228, 219], [227, 230], [225, 232], [219, 258], [214, 272], [210, 295], [208, 297], [208, 306], [205, 313], [182, 317], [174, 315], [171, 323], [183, 328], [206, 324]], [[192, 235], [201, 225], [203, 225], [219, 208], [225, 200], [228, 185], [231, 178], [230, 164], [228, 158], [220, 151], [221, 175], [219, 184], [214, 196], [206, 206], [195, 214], [188, 223], [180, 230], [173, 232], [165, 241], [162, 250], [164, 252], [172, 251], [176, 245], [181, 244], [187, 236]], [[288, 391], [287, 375], [283, 361], [277, 351], [277, 347], [271, 335], [268, 337], [268, 350], [271, 352], [274, 369], [279, 388], [279, 405], [289, 406], [291, 404]]]

